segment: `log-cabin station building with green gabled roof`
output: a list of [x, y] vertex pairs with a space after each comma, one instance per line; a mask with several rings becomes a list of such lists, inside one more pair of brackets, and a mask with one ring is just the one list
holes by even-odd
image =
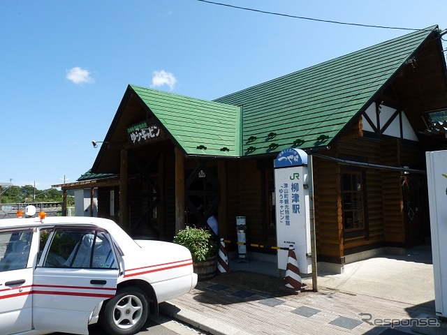
[[274, 246], [273, 161], [300, 148], [313, 158], [320, 268], [423, 244], [425, 151], [447, 144], [441, 36], [429, 27], [214, 101], [129, 85], [91, 170], [63, 189], [135, 237], [172, 240], [214, 215], [235, 241], [244, 216], [247, 241]]

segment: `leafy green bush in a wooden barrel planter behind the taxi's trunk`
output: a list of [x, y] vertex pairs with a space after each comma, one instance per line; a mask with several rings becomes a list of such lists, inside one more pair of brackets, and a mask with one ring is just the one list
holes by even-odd
[[198, 280], [215, 276], [217, 243], [210, 230], [187, 226], [175, 235], [174, 243], [185, 246], [191, 252], [194, 272], [198, 274]]

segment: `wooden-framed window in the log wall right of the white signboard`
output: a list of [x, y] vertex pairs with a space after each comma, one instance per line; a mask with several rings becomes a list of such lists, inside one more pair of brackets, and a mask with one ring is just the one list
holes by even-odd
[[342, 196], [344, 230], [365, 230], [362, 172], [342, 173]]

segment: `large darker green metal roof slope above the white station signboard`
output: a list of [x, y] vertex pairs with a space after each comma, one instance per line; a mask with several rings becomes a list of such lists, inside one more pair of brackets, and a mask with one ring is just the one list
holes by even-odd
[[243, 156], [328, 145], [374, 101], [434, 29], [437, 26], [215, 101], [242, 106]]

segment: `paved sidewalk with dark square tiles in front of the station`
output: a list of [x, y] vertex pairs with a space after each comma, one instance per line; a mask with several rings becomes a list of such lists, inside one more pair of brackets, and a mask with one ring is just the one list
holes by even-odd
[[[318, 274], [318, 292], [309, 286], [300, 295], [279, 290], [284, 281], [269, 275], [277, 273], [276, 265], [230, 262], [229, 274], [162, 303], [161, 313], [214, 335], [418, 334], [404, 326], [434, 315], [430, 262], [423, 248], [363, 260], [346, 265], [344, 274]], [[312, 279], [303, 283], [312, 285]], [[445, 328], [429, 330], [447, 334]]]

